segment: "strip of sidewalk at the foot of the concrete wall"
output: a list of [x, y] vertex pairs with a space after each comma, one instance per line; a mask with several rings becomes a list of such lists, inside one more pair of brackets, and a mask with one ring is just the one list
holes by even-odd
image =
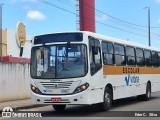
[[11, 108], [13, 108], [15, 110], [18, 110], [18, 109], [27, 109], [27, 108], [40, 107], [40, 106], [43, 106], [43, 105], [32, 105], [31, 99], [8, 101], [8, 102], [0, 103], [0, 112], [5, 107], [11, 107]]

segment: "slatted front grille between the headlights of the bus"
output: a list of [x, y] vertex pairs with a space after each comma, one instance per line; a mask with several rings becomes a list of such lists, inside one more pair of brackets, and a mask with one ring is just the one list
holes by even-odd
[[42, 86], [46, 89], [59, 89], [59, 88], [69, 88], [72, 85], [72, 81], [69, 82], [41, 82]]

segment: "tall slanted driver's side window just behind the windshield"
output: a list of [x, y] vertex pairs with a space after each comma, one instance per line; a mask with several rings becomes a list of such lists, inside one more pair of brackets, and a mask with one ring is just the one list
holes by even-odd
[[89, 57], [90, 57], [90, 71], [93, 76], [102, 68], [101, 49], [99, 40], [89, 40]]

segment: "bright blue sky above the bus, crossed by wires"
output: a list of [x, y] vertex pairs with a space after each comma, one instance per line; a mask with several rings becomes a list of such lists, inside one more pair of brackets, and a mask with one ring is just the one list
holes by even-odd
[[[76, 0], [46, 0], [58, 7], [76, 13]], [[96, 11], [96, 32], [148, 45], [147, 9], [151, 10], [151, 45], [160, 48], [160, 0], [95, 0], [96, 9], [137, 27], [117, 21]], [[76, 15], [49, 6], [40, 0], [0, 0], [3, 3], [3, 29], [16, 29], [18, 21], [26, 25], [27, 34], [76, 31]], [[118, 28], [118, 29], [117, 29]]]

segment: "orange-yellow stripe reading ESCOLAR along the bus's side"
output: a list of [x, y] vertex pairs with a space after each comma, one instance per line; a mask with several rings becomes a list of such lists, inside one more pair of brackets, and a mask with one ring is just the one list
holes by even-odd
[[111, 66], [103, 65], [104, 75], [117, 74], [160, 74], [160, 68], [156, 67], [129, 67], [129, 66]]

